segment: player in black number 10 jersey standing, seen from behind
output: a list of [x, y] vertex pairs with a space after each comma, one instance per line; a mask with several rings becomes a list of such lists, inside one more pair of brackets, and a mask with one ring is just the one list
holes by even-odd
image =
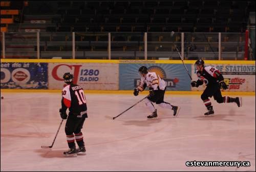
[[[84, 146], [81, 132], [83, 123], [88, 117], [86, 97], [80, 85], [73, 83], [73, 75], [71, 73], [65, 73], [63, 79], [67, 83], [67, 86], [62, 90], [61, 109], [59, 109], [59, 113], [62, 119], [68, 118], [65, 133], [70, 148], [67, 152], [63, 152], [63, 155], [65, 157], [86, 155], [86, 147]], [[69, 115], [66, 113], [68, 108]], [[79, 146], [77, 149], [75, 140]]]

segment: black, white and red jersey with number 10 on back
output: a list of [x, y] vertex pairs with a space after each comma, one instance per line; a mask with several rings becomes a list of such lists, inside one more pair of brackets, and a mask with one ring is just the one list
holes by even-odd
[[83, 115], [87, 117], [87, 104], [86, 96], [84, 95], [83, 89], [77, 84], [68, 84], [62, 90], [61, 108], [67, 110], [71, 114]]

